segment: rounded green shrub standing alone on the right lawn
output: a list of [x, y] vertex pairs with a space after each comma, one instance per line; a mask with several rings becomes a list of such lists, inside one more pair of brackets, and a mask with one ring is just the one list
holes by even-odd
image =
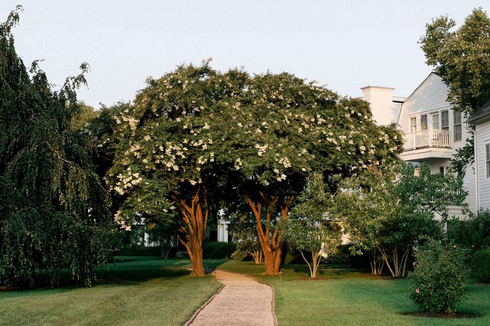
[[456, 305], [467, 296], [468, 249], [445, 247], [429, 240], [415, 253], [410, 276], [410, 298], [428, 313], [455, 313]]

